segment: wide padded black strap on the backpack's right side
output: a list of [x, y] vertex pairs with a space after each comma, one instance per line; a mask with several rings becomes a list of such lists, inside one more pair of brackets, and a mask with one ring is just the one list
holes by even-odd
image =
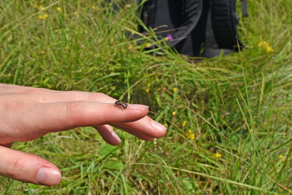
[[211, 0], [211, 22], [219, 48], [238, 50], [236, 0]]

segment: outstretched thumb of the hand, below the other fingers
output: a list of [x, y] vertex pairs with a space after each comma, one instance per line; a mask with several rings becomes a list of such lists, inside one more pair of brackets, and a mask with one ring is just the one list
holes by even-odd
[[60, 170], [39, 156], [4, 146], [0, 146], [0, 156], [0, 175], [46, 186], [55, 186], [61, 181]]

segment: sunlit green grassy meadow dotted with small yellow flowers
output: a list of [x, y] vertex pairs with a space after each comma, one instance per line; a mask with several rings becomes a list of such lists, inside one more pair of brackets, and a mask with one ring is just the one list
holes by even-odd
[[248, 1], [246, 48], [197, 62], [128, 40], [137, 6], [117, 1], [0, 0], [0, 82], [146, 104], [167, 134], [117, 130], [114, 147], [84, 127], [15, 143], [62, 181], [0, 177], [0, 194], [292, 194], [291, 0]]

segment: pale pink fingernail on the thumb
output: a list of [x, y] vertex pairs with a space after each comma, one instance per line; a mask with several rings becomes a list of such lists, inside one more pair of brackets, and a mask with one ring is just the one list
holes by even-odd
[[38, 184], [55, 186], [60, 183], [61, 175], [57, 170], [51, 168], [41, 168], [37, 173], [36, 181]]

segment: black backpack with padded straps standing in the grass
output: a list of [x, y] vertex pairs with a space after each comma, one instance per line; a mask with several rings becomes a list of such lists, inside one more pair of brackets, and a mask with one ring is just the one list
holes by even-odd
[[[242, 13], [248, 16], [246, 0]], [[236, 0], [148, 0], [142, 4], [140, 18], [157, 37], [186, 56], [213, 57], [238, 51]], [[141, 25], [139, 32], [148, 32]], [[203, 51], [203, 52], [201, 52]]]

